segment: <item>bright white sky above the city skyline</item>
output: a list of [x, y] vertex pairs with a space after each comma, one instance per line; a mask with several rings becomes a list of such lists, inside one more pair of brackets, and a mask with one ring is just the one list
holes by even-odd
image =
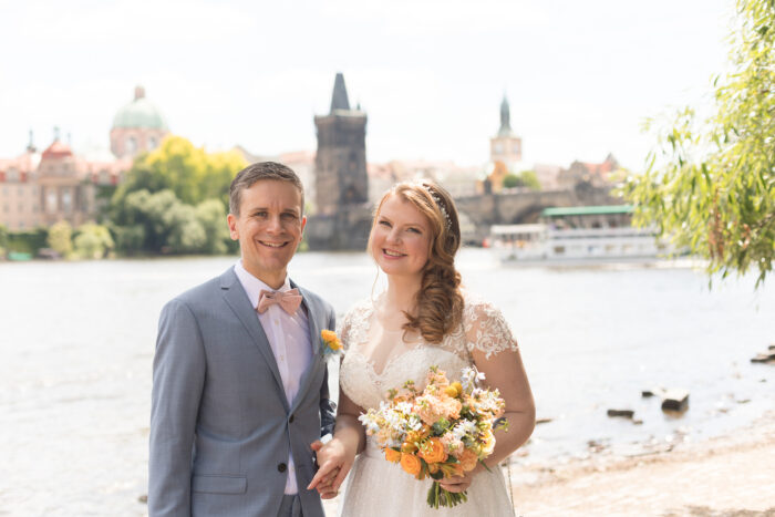
[[[208, 151], [317, 147], [337, 72], [369, 162], [484, 165], [504, 94], [527, 163], [642, 169], [647, 117], [706, 102], [732, 0], [0, 0], [0, 157], [110, 146], [141, 84]], [[704, 101], [703, 101], [704, 100]]]

